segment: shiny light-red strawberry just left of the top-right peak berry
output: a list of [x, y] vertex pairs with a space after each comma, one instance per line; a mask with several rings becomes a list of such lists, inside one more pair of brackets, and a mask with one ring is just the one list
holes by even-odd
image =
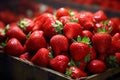
[[73, 17], [78, 18], [78, 23], [83, 27], [83, 29], [90, 30], [94, 26], [93, 13], [91, 12], [80, 12]]

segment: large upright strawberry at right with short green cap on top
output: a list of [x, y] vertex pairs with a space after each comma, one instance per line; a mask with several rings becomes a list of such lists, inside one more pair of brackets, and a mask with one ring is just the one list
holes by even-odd
[[92, 37], [93, 48], [99, 53], [104, 54], [110, 49], [112, 42], [112, 37], [110, 34], [106, 33], [105, 28], [98, 30]]

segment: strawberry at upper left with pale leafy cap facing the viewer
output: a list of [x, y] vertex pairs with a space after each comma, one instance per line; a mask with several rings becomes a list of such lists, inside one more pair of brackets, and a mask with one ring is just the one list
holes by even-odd
[[28, 34], [29, 32], [32, 31], [34, 27], [34, 23], [31, 19], [29, 18], [23, 18], [19, 21], [18, 26], [26, 33]]

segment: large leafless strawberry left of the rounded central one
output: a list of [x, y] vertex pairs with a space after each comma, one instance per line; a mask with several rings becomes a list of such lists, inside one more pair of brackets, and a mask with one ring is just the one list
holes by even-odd
[[26, 40], [24, 47], [29, 52], [36, 52], [40, 48], [46, 48], [47, 43], [43, 31], [32, 32], [30, 37]]

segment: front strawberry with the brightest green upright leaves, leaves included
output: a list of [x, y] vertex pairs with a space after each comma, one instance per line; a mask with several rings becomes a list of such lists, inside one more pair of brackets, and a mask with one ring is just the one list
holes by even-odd
[[70, 53], [71, 53], [71, 57], [75, 60], [75, 61], [81, 61], [84, 60], [85, 56], [89, 53], [90, 51], [90, 47], [88, 44], [90, 39], [88, 37], [84, 37], [84, 38], [80, 38], [80, 36], [78, 36], [77, 38], [77, 42], [73, 42], [70, 45]]

